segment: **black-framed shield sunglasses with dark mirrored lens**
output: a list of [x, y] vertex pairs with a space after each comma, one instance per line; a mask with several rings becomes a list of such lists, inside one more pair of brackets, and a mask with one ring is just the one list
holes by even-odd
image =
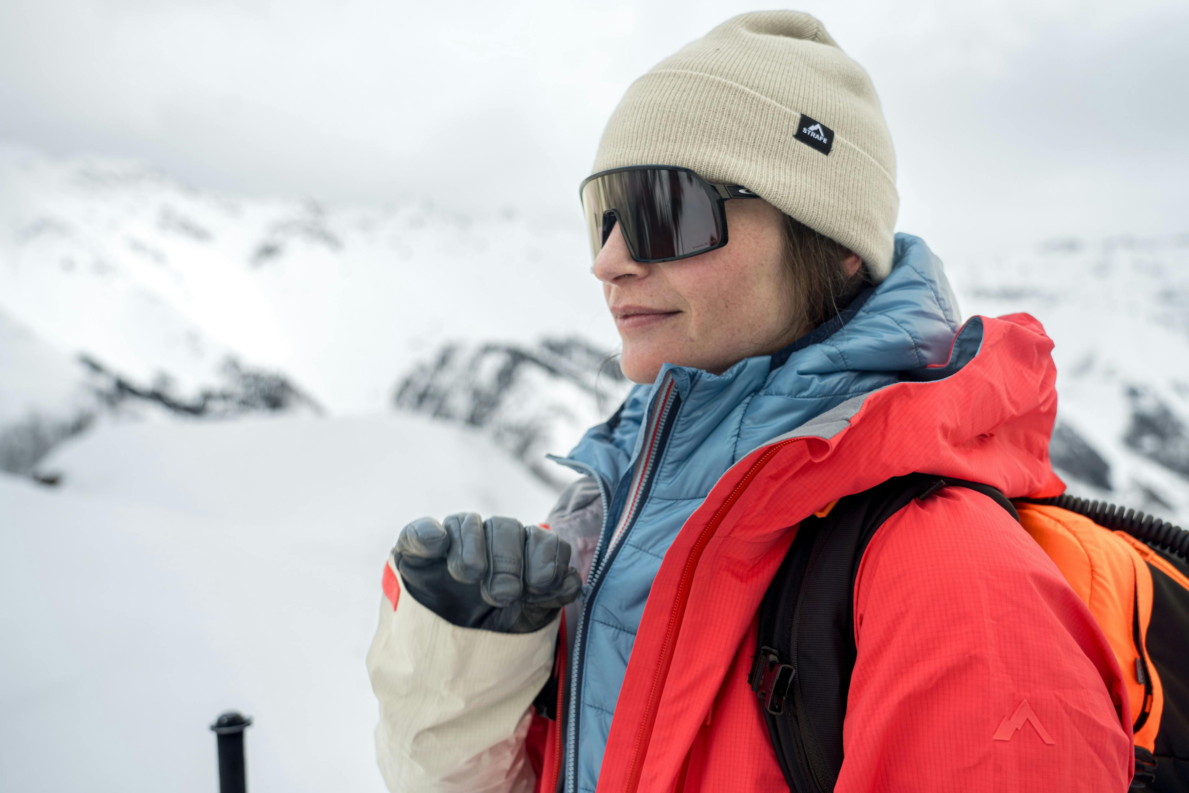
[[591, 254], [616, 224], [636, 262], [673, 262], [726, 245], [730, 199], [757, 199], [737, 184], [711, 183], [688, 168], [633, 165], [587, 176], [583, 200]]

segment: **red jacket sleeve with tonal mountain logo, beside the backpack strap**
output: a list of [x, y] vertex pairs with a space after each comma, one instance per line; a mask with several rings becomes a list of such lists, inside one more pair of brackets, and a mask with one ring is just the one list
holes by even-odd
[[988, 497], [949, 487], [875, 534], [836, 789], [1127, 789], [1118, 661], [1056, 565]]

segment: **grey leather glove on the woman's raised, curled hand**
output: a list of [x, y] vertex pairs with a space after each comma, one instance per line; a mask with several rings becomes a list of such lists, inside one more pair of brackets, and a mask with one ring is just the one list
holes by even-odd
[[417, 603], [463, 628], [528, 634], [581, 591], [570, 543], [510, 517], [420, 518], [401, 529], [392, 561]]

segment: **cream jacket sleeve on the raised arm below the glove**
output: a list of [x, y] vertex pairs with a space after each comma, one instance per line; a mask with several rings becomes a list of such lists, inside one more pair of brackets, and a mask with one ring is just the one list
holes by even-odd
[[389, 559], [367, 672], [376, 755], [392, 793], [531, 793], [524, 748], [558, 621], [533, 634], [459, 628], [402, 592]]

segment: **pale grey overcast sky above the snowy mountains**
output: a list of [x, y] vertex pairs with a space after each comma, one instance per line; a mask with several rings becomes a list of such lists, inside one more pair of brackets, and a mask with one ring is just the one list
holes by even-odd
[[[578, 224], [628, 84], [734, 0], [0, 0], [0, 138], [203, 188]], [[1184, 0], [835, 0], [942, 253], [1189, 232]]]

